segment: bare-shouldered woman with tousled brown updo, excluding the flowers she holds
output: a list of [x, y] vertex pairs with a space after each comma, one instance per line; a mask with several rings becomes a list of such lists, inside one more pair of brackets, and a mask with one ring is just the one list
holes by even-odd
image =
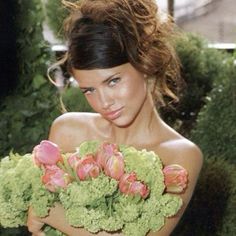
[[[170, 85], [178, 84], [179, 64], [171, 46], [172, 23], [152, 0], [85, 0], [67, 3], [72, 14], [65, 24], [68, 71], [78, 81], [96, 113], [66, 113], [53, 123], [49, 139], [64, 152], [85, 140], [110, 141], [155, 151], [164, 165], [179, 164], [189, 173], [184, 207], [165, 226], [149, 235], [169, 235], [193, 193], [202, 165], [198, 147], [170, 128], [155, 102], [177, 100]], [[66, 223], [60, 205], [46, 218], [29, 211], [28, 227], [40, 235], [43, 224], [67, 235], [92, 235]], [[97, 235], [121, 235], [99, 232]]]

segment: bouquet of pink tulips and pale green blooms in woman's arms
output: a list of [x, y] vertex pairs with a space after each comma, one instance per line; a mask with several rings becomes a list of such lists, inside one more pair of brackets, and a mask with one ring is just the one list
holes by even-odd
[[144, 236], [181, 208], [175, 193], [186, 187], [187, 172], [163, 167], [154, 152], [130, 146], [86, 141], [63, 154], [44, 140], [31, 154], [3, 158], [0, 183], [3, 227], [25, 225], [29, 206], [45, 217], [59, 202], [74, 227]]

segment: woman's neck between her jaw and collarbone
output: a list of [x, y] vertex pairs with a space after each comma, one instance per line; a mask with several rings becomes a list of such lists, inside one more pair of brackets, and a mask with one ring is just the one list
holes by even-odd
[[148, 145], [154, 140], [152, 136], [155, 135], [156, 137], [155, 131], [158, 131], [159, 125], [160, 117], [156, 111], [152, 96], [148, 93], [134, 121], [124, 128], [113, 125], [110, 137], [112, 137], [113, 142], [119, 144], [134, 145], [136, 147], [145, 146], [145, 142]]

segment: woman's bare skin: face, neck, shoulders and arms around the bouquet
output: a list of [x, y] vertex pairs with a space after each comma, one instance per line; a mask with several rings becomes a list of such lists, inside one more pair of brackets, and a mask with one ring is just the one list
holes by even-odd
[[[97, 113], [66, 113], [57, 118], [49, 139], [64, 152], [73, 152], [84, 140], [107, 140], [152, 150], [164, 165], [179, 164], [188, 171], [188, 187], [180, 194], [184, 206], [179, 213], [166, 219], [164, 227], [149, 236], [167, 236], [181, 218], [191, 199], [202, 166], [202, 153], [159, 116], [145, 76], [130, 63], [109, 69], [74, 70], [74, 78]], [[38, 218], [29, 210], [28, 227], [33, 235], [42, 235], [43, 224], [49, 224], [67, 235], [91, 236], [81, 228], [69, 226], [64, 209], [58, 204], [46, 218]], [[97, 235], [122, 235], [99, 232]]]

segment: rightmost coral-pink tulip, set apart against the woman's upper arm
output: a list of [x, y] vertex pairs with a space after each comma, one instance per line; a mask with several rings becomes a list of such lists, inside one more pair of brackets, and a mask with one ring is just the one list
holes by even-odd
[[187, 186], [188, 172], [177, 164], [168, 165], [163, 169], [166, 192], [181, 193]]

